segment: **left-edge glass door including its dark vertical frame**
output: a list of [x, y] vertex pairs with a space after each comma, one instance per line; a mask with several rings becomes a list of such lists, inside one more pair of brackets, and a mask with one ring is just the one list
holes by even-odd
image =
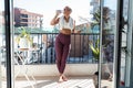
[[0, 88], [12, 88], [10, 0], [0, 1]]

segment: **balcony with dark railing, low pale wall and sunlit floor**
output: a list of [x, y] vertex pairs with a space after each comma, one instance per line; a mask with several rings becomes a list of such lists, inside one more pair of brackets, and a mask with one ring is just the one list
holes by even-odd
[[[14, 38], [18, 34], [14, 35]], [[69, 76], [69, 81], [58, 84], [58, 70], [55, 66], [55, 52], [54, 52], [54, 40], [58, 33], [31, 33], [33, 38], [34, 48], [38, 51], [28, 53], [30, 61], [27, 62], [25, 67], [28, 68], [28, 76], [31, 74], [35, 77], [37, 82], [31, 80], [31, 82], [37, 86], [37, 88], [89, 88], [89, 84], [94, 85], [93, 74], [98, 70], [98, 61], [94, 59], [92, 51], [89, 46], [89, 42], [96, 42], [99, 40], [99, 33], [81, 33], [71, 35], [71, 50], [66, 61], [65, 75]], [[109, 36], [109, 35], [106, 35]], [[110, 34], [113, 38], [113, 34]], [[110, 44], [109, 44], [109, 47]], [[18, 48], [14, 42], [14, 48]], [[113, 48], [108, 50], [109, 52]], [[4, 50], [2, 50], [1, 56], [4, 58]], [[22, 54], [22, 52], [19, 52]], [[112, 54], [112, 53], [111, 53]], [[112, 55], [113, 56], [113, 55]], [[24, 57], [22, 57], [24, 58]], [[111, 57], [104, 57], [104, 63], [112, 63]], [[20, 58], [17, 56], [14, 51], [14, 59], [18, 62]], [[4, 61], [2, 62], [1, 69], [4, 69]], [[14, 75], [20, 69], [14, 63]], [[88, 69], [88, 70], [86, 70]], [[2, 73], [2, 77], [3, 73]], [[30, 84], [24, 78], [23, 74], [20, 73], [16, 79], [16, 88], [31, 88]], [[84, 84], [83, 84], [84, 82]], [[3, 82], [4, 84], [4, 82]], [[23, 84], [23, 85], [22, 85]], [[111, 81], [103, 79], [102, 84], [111, 87]], [[88, 86], [86, 86], [88, 85]], [[23, 87], [24, 86], [24, 87]], [[92, 87], [93, 88], [93, 87]]]

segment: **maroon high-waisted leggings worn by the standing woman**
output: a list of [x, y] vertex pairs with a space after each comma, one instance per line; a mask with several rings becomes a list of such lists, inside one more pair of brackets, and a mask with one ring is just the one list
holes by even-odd
[[71, 35], [60, 33], [55, 38], [57, 66], [60, 74], [63, 74], [70, 50]]

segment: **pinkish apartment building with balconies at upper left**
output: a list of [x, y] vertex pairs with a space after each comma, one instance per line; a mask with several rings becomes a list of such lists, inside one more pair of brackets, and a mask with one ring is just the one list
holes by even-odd
[[42, 28], [42, 14], [29, 12], [24, 9], [14, 8], [14, 26]]

